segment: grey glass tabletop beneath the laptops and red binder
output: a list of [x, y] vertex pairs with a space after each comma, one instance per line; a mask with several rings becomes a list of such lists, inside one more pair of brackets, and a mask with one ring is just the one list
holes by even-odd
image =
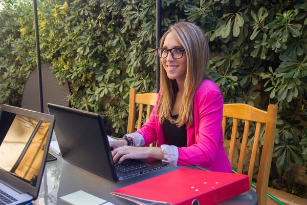
[[[66, 203], [59, 199], [61, 196], [82, 190], [106, 201], [119, 204], [119, 202], [111, 196], [111, 191], [181, 168], [183, 167], [168, 166], [167, 168], [152, 172], [150, 174], [144, 174], [114, 183], [91, 172], [76, 167], [71, 163], [64, 161], [61, 156], [58, 156], [56, 161], [46, 163], [46, 169], [41, 182], [38, 199], [32, 203], [35, 205], [64, 205]], [[196, 167], [184, 168], [198, 169]], [[250, 190], [220, 204], [257, 204], [257, 201], [258, 198], [256, 193], [253, 190]]]

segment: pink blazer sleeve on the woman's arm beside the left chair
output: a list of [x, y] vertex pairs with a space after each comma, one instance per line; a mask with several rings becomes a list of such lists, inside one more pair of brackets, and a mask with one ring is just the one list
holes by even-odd
[[160, 89], [158, 93], [156, 105], [153, 107], [148, 120], [144, 123], [141, 129], [136, 131], [136, 133], [143, 136], [145, 142], [144, 146], [150, 145], [152, 142], [157, 140], [157, 123], [159, 123], [159, 118], [155, 115], [160, 100], [161, 90], [162, 89]]

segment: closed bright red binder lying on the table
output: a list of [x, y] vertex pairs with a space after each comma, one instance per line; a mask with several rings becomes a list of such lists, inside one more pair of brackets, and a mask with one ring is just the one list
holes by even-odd
[[[217, 204], [250, 189], [247, 175], [179, 169], [111, 192], [137, 204]], [[197, 201], [199, 203], [197, 203]]]

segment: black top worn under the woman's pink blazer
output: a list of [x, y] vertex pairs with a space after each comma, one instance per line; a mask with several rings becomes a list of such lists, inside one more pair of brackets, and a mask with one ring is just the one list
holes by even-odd
[[[177, 119], [178, 115], [171, 116], [173, 119]], [[177, 127], [171, 124], [169, 120], [164, 120], [162, 124], [164, 133], [169, 142], [169, 145], [174, 145], [176, 147], [187, 147], [187, 126], [186, 124]]]

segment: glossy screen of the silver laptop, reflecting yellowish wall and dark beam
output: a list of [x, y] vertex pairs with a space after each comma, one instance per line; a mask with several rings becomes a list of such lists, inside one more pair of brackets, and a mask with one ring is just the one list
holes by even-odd
[[49, 129], [50, 122], [3, 111], [0, 169], [35, 187]]

